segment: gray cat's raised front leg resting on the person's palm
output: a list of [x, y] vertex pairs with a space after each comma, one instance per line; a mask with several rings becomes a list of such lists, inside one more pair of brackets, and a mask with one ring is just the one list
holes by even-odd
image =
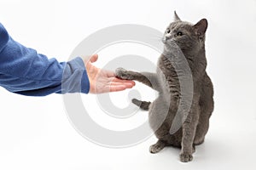
[[145, 85], [149, 86], [150, 88], [154, 88], [155, 90], [160, 89], [158, 78], [155, 73], [126, 71], [123, 68], [118, 68], [115, 70], [115, 74], [117, 77], [121, 79], [143, 82]]

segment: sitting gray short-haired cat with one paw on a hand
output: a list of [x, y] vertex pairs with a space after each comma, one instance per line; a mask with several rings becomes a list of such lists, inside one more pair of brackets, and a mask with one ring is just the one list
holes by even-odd
[[[207, 20], [202, 19], [192, 25], [179, 19], [175, 13], [175, 20], [167, 27], [162, 41], [164, 52], [158, 60], [156, 73], [126, 71], [119, 68], [116, 75], [122, 79], [143, 82], [159, 92], [154, 102], [132, 99], [132, 103], [141, 109], [149, 111], [149, 124], [158, 138], [156, 144], [150, 146], [151, 153], [157, 153], [165, 146], [181, 148], [180, 161], [192, 161], [195, 145], [202, 144], [209, 128], [209, 118], [213, 111], [213, 87], [207, 75], [207, 59], [205, 52], [205, 33]], [[177, 46], [183, 53], [189, 65], [192, 80], [191, 107], [183, 113], [181, 126], [174, 133], [170, 129], [178, 124], [175, 119], [181, 99], [181, 86], [175, 63], [172, 57]], [[177, 53], [176, 53], [177, 54]], [[180, 57], [177, 55], [176, 57]], [[166, 113], [167, 114], [166, 114]], [[163, 118], [164, 117], [164, 118]], [[173, 121], [173, 120], [176, 120]]]

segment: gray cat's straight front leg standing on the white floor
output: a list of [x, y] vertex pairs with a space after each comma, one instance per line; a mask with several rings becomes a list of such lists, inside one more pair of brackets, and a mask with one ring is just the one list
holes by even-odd
[[195, 152], [194, 139], [196, 127], [199, 119], [199, 109], [192, 105], [189, 116], [183, 123], [183, 139], [180, 161], [188, 162], [193, 160], [192, 154]]

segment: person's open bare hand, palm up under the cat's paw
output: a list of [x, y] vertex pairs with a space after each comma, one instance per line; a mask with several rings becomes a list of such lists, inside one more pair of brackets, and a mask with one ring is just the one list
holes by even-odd
[[97, 59], [97, 54], [92, 55], [90, 59], [84, 59], [84, 65], [90, 82], [90, 94], [118, 92], [126, 88], [132, 88], [135, 85], [133, 81], [117, 78], [113, 71], [102, 70], [92, 65], [91, 63], [96, 62]]

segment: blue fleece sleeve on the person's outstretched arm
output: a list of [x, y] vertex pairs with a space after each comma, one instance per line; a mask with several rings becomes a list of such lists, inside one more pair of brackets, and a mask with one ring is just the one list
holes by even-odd
[[9, 37], [0, 23], [0, 86], [15, 94], [88, 94], [90, 82], [83, 59], [59, 63]]

